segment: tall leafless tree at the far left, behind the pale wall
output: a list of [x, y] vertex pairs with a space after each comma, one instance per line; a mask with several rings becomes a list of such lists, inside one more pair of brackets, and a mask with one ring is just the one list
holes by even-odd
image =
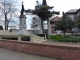
[[15, 16], [16, 7], [15, 0], [0, 0], [0, 16], [4, 18], [5, 30], [8, 30], [10, 22], [14, 22], [13, 16]]

